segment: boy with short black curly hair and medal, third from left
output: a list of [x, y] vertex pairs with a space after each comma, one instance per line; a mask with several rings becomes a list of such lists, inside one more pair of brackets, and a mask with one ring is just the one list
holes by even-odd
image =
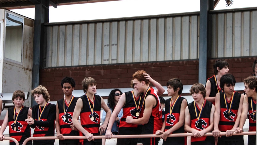
[[77, 97], [72, 95], [75, 88], [75, 80], [72, 77], [64, 77], [61, 81], [64, 98], [56, 104], [56, 137], [60, 140], [59, 145], [78, 145], [79, 140], [64, 140], [64, 136], [79, 136], [78, 129], [72, 124], [72, 116]]

